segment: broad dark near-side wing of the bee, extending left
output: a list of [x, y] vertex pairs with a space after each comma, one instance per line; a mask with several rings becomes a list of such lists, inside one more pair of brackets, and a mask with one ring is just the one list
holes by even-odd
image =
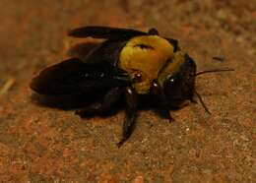
[[31, 88], [40, 94], [62, 95], [95, 92], [130, 83], [129, 75], [121, 69], [72, 58], [41, 71], [32, 79]]

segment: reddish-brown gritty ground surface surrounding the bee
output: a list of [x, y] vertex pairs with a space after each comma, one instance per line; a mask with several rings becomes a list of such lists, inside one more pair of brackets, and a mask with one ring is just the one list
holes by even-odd
[[[254, 182], [256, 1], [0, 1], [1, 182]], [[80, 26], [148, 30], [177, 38], [198, 70], [234, 68], [197, 79], [200, 104], [151, 110], [120, 149], [124, 112], [81, 119], [36, 104], [29, 83], [85, 39]], [[214, 60], [212, 57], [222, 57]], [[253, 181], [254, 180], [254, 181]]]

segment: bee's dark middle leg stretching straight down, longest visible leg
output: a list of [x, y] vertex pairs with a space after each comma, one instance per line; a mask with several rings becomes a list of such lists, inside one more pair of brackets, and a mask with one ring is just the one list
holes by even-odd
[[126, 96], [126, 112], [125, 112], [125, 121], [123, 123], [123, 135], [121, 141], [117, 144], [117, 147], [120, 148], [131, 136], [134, 130], [136, 111], [137, 111], [137, 94], [131, 88], [128, 87], [125, 91]]

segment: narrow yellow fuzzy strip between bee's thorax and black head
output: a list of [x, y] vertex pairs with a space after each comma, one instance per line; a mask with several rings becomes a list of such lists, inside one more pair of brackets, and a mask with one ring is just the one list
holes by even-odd
[[179, 71], [182, 64], [185, 62], [185, 53], [183, 51], [177, 51], [174, 53], [173, 59], [166, 63], [164, 68], [160, 71], [158, 81], [160, 86], [163, 86], [163, 82], [167, 75], [173, 74]]

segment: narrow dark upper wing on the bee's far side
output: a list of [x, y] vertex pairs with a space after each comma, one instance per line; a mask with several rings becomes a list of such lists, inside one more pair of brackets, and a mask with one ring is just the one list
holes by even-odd
[[133, 36], [147, 35], [147, 32], [130, 29], [110, 28], [110, 27], [82, 27], [70, 30], [68, 35], [74, 37], [94, 37], [105, 39], [129, 39]]

